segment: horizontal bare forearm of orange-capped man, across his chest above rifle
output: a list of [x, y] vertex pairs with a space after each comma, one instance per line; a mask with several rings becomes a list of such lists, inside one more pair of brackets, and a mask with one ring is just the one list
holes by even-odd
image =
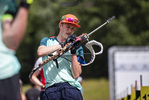
[[51, 54], [55, 52], [56, 50], [59, 50], [61, 48], [61, 45], [53, 45], [53, 46], [39, 46], [37, 50], [37, 54], [39, 57], [46, 56], [48, 54]]

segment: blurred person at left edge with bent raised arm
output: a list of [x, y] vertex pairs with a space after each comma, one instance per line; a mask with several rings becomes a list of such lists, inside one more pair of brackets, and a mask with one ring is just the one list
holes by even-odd
[[21, 0], [20, 8], [12, 22], [11, 15], [5, 16], [4, 13], [16, 13], [15, 0], [0, 0], [0, 100], [21, 99], [18, 74], [21, 66], [15, 52], [25, 35], [28, 9], [32, 3], [32, 0], [30, 1]]

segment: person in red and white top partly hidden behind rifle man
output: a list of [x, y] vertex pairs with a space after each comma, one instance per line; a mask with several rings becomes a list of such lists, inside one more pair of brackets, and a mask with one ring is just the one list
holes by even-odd
[[[42, 57], [39, 57], [34, 65], [34, 68], [37, 68], [38, 65], [42, 62]], [[38, 79], [38, 76], [40, 75], [41, 81]], [[41, 87], [41, 92], [40, 92], [40, 100], [43, 100], [43, 94], [44, 94], [44, 90], [45, 90], [45, 84], [46, 84], [46, 80], [44, 78], [44, 74], [43, 74], [43, 67], [41, 67], [40, 69], [38, 69], [31, 77], [30, 79], [34, 84], [38, 85]]]

